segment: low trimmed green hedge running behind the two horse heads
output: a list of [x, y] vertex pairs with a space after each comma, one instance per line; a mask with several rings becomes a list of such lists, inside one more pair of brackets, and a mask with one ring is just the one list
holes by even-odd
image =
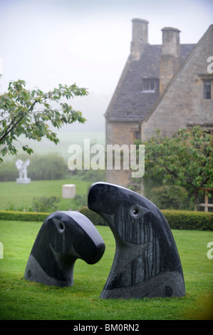
[[[187, 210], [161, 210], [171, 229], [176, 230], [212, 230], [213, 212], [194, 212]], [[80, 213], [88, 217], [93, 225], [106, 226], [107, 223], [88, 207], [81, 207]], [[0, 220], [40, 221], [43, 222], [50, 213], [0, 211]]]

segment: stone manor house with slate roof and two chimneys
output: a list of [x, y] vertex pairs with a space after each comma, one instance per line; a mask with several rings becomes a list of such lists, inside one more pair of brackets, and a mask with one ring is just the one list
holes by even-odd
[[[180, 30], [162, 29], [148, 42], [148, 21], [133, 19], [130, 56], [105, 113], [106, 144], [131, 145], [156, 129], [171, 136], [201, 125], [213, 133], [213, 25], [197, 44], [180, 44]], [[127, 187], [130, 170], [107, 170], [106, 181]]]

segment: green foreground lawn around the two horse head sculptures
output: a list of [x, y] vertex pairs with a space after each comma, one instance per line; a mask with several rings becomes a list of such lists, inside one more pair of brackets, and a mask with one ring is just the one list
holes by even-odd
[[0, 221], [1, 320], [180, 320], [211, 319], [213, 273], [207, 243], [213, 232], [172, 230], [182, 260], [187, 294], [181, 298], [100, 299], [115, 252], [108, 227], [96, 226], [106, 250], [100, 262], [80, 259], [73, 287], [48, 287], [28, 282], [24, 270], [41, 222]]

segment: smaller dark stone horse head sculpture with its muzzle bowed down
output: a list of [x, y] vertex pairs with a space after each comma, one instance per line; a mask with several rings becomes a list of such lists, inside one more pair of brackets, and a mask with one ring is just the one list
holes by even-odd
[[24, 278], [46, 285], [73, 285], [76, 259], [97, 263], [105, 243], [87, 217], [79, 212], [53, 212], [43, 222], [28, 257]]

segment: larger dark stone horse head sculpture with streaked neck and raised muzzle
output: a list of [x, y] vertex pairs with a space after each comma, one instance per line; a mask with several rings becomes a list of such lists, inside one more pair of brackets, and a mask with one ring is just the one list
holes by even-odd
[[175, 239], [152, 202], [124, 187], [96, 182], [88, 192], [88, 207], [108, 222], [116, 242], [101, 298], [185, 295]]

